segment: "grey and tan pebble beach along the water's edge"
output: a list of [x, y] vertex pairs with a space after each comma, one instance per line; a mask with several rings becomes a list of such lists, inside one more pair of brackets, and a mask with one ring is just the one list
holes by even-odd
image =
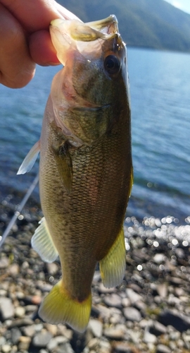
[[[0, 234], [16, 212], [0, 200]], [[84, 333], [44, 323], [38, 307], [61, 277], [59, 261], [44, 263], [30, 240], [42, 213], [30, 201], [0, 251], [0, 352], [188, 353], [190, 351], [190, 217], [125, 220], [126, 271], [117, 288], [92, 282]], [[74, 259], [75, 261], [75, 259]]]

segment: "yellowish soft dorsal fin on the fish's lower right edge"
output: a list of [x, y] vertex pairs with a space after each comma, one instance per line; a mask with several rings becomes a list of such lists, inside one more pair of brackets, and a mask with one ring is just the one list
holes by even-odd
[[101, 279], [105, 287], [120, 285], [125, 275], [125, 238], [123, 229], [108, 254], [100, 261]]

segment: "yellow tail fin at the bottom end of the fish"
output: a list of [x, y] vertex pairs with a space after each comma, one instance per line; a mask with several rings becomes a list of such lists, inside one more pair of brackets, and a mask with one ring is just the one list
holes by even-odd
[[91, 312], [91, 294], [84, 301], [70, 298], [63, 281], [59, 281], [44, 298], [39, 316], [48, 323], [68, 323], [74, 330], [84, 332]]

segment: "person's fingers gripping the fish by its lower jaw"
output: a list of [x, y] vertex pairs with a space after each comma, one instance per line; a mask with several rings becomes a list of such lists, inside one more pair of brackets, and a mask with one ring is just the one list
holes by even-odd
[[75, 15], [54, 0], [0, 0], [0, 83], [22, 88], [35, 66], [60, 64], [51, 43], [49, 24]]

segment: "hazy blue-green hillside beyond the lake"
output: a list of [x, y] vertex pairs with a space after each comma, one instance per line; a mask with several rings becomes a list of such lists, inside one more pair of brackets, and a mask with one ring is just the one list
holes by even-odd
[[164, 0], [58, 0], [82, 20], [118, 18], [128, 46], [190, 52], [190, 15]]

